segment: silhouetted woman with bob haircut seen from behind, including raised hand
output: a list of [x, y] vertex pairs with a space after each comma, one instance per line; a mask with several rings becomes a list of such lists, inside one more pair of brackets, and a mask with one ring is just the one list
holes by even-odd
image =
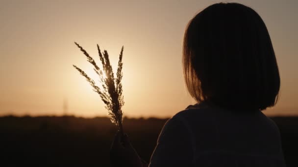
[[[216, 3], [196, 15], [184, 35], [183, 72], [198, 104], [164, 125], [149, 167], [285, 167], [279, 130], [261, 112], [276, 104], [278, 66], [253, 9]], [[119, 133], [111, 158], [148, 166]]]

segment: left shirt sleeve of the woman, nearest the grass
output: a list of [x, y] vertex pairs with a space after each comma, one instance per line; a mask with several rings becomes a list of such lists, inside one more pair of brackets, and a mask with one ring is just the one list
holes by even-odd
[[193, 148], [189, 129], [179, 118], [164, 125], [150, 159], [149, 167], [191, 167]]

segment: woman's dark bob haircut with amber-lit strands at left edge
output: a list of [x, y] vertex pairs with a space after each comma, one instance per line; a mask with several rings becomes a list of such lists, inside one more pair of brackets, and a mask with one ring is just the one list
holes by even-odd
[[198, 103], [264, 110], [278, 99], [280, 78], [266, 25], [239, 3], [213, 4], [188, 23], [183, 72]]

